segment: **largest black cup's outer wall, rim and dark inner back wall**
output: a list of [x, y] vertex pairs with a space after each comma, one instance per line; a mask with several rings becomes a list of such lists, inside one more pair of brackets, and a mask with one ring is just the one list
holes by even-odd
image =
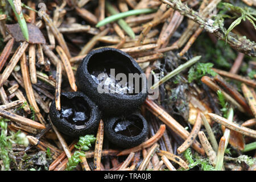
[[98, 84], [92, 78], [92, 69], [93, 67], [100, 67], [102, 64], [107, 65], [107, 67], [113, 64], [113, 68], [121, 66], [125, 68], [126, 73], [138, 73], [139, 75], [143, 73], [138, 63], [127, 53], [115, 48], [96, 49], [84, 57], [77, 69], [76, 82], [78, 88], [100, 107], [104, 116], [133, 113], [146, 100], [146, 76], [144, 73], [142, 74], [141, 88], [137, 94], [99, 93], [97, 90]]

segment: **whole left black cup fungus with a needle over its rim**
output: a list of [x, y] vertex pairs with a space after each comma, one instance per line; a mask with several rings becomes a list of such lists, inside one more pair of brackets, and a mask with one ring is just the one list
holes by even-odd
[[93, 134], [101, 119], [101, 111], [82, 92], [61, 93], [61, 110], [52, 101], [49, 115], [59, 131], [71, 137]]

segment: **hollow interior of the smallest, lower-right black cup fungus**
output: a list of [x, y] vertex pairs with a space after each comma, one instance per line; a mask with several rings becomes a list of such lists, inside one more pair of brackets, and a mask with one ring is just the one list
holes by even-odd
[[143, 121], [138, 115], [129, 115], [125, 118], [118, 118], [113, 125], [113, 130], [117, 134], [127, 137], [135, 137], [143, 130]]

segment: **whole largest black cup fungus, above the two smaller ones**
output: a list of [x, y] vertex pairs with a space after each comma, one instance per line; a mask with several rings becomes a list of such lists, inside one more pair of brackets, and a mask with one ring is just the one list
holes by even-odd
[[[114, 73], [110, 69], [114, 69]], [[127, 79], [118, 78], [121, 75], [118, 73], [124, 73]], [[105, 116], [133, 113], [147, 97], [147, 78], [141, 67], [127, 53], [115, 48], [89, 52], [77, 69], [76, 81], [77, 87]]]

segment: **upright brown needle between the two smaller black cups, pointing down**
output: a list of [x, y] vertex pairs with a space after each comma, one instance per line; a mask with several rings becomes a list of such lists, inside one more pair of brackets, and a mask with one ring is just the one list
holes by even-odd
[[95, 142], [95, 149], [94, 149], [94, 170], [100, 171], [101, 165], [101, 153], [102, 153], [102, 144], [104, 138], [104, 123], [101, 119], [100, 124], [98, 125], [98, 132]]

